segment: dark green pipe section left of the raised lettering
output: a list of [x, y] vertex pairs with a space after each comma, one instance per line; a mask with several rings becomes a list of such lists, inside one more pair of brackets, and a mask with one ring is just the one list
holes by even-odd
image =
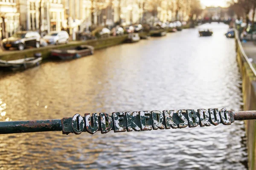
[[61, 130], [61, 119], [0, 122], [0, 134]]

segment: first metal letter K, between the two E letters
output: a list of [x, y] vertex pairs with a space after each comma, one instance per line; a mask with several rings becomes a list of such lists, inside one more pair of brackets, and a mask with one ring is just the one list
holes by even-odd
[[140, 115], [138, 112], [125, 112], [126, 122], [127, 122], [127, 131], [140, 131]]

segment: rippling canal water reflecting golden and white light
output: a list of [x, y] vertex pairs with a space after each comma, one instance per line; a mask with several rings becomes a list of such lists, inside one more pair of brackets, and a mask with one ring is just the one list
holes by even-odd
[[[212, 28], [199, 37], [198, 28]], [[224, 108], [241, 110], [241, 78], [228, 26], [212, 23], [1, 73], [0, 121], [75, 113]], [[0, 135], [0, 169], [247, 169], [243, 122], [91, 135]]]

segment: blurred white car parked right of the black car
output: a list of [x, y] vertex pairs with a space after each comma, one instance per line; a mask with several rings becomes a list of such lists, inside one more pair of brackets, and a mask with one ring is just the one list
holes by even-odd
[[69, 35], [66, 31], [51, 31], [49, 34], [43, 37], [48, 44], [61, 44], [67, 43]]

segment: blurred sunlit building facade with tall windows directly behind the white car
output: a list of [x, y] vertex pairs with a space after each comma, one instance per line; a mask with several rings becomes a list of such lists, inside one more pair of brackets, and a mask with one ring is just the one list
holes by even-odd
[[62, 0], [17, 0], [21, 30], [34, 30], [42, 35], [60, 31], [64, 23]]

